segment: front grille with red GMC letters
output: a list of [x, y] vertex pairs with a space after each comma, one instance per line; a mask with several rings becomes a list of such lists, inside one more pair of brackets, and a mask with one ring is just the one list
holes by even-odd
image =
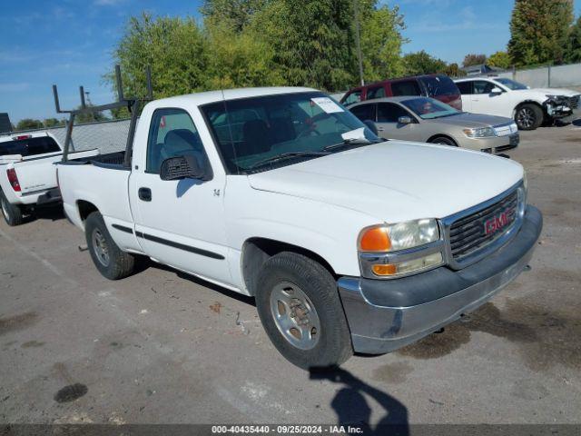
[[515, 190], [499, 202], [452, 223], [449, 238], [454, 260], [477, 252], [506, 233], [515, 223], [517, 202], [518, 193]]

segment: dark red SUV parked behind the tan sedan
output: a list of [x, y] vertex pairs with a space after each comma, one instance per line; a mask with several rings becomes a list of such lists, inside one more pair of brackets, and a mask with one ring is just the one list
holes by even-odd
[[401, 79], [384, 80], [353, 88], [341, 99], [341, 104], [349, 106], [365, 100], [403, 95], [423, 95], [462, 110], [462, 98], [458, 86], [445, 74], [425, 74]]

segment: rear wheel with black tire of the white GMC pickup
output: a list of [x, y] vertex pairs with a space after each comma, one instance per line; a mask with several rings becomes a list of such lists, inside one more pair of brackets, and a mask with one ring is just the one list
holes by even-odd
[[84, 235], [97, 270], [109, 280], [119, 280], [133, 272], [135, 258], [113, 241], [101, 213], [91, 213], [84, 222]]

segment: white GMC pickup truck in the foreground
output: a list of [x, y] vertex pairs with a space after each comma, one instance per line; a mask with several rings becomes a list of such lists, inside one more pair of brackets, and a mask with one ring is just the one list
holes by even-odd
[[153, 101], [123, 162], [58, 165], [97, 269], [120, 279], [145, 255], [252, 295], [301, 368], [396, 350], [476, 309], [542, 227], [520, 164], [379, 140], [308, 88]]

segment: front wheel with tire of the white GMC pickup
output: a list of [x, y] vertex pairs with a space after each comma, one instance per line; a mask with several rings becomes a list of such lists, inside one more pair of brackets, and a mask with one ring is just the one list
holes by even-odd
[[337, 282], [320, 263], [279, 253], [258, 277], [256, 307], [271, 342], [302, 369], [339, 366], [353, 349]]

